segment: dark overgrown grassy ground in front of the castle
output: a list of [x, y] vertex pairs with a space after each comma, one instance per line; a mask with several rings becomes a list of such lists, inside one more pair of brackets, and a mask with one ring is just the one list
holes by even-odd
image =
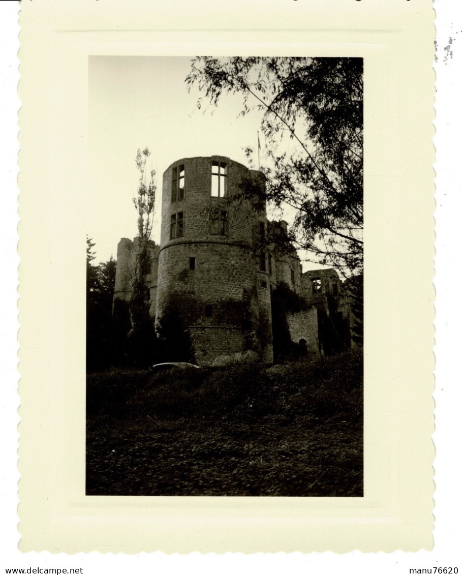
[[362, 355], [87, 376], [87, 495], [363, 494]]

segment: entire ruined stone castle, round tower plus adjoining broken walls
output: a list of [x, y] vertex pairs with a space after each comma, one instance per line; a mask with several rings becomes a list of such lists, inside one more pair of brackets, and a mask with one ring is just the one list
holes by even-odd
[[[255, 190], [255, 201], [244, 189]], [[159, 321], [177, 308], [200, 364], [248, 350], [273, 362], [271, 291], [281, 283], [309, 304], [287, 314], [291, 340], [320, 352], [317, 315], [325, 306], [329, 316], [327, 295], [339, 293], [339, 277], [303, 274], [293, 246], [271, 241], [287, 237], [287, 224], [267, 220], [264, 191], [261, 172], [224, 156], [183, 158], [164, 171], [160, 246], [150, 241], [146, 277], [150, 314]], [[114, 299], [131, 298], [136, 244], [118, 244]]]

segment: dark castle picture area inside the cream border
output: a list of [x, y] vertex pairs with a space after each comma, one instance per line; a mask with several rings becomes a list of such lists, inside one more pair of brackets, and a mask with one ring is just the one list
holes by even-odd
[[86, 494], [362, 497], [363, 59], [89, 57]]

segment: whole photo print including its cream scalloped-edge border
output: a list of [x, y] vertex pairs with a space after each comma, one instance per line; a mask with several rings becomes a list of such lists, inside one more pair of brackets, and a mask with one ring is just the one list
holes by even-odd
[[266, 2], [21, 2], [20, 553], [433, 549], [457, 40], [430, 1]]

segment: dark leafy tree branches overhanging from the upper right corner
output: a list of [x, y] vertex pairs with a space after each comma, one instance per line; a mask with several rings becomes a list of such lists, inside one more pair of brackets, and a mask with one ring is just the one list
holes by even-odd
[[361, 271], [363, 60], [198, 56], [186, 82], [213, 106], [225, 92], [242, 96], [243, 115], [262, 112], [267, 199], [296, 209], [294, 237], [318, 263]]

